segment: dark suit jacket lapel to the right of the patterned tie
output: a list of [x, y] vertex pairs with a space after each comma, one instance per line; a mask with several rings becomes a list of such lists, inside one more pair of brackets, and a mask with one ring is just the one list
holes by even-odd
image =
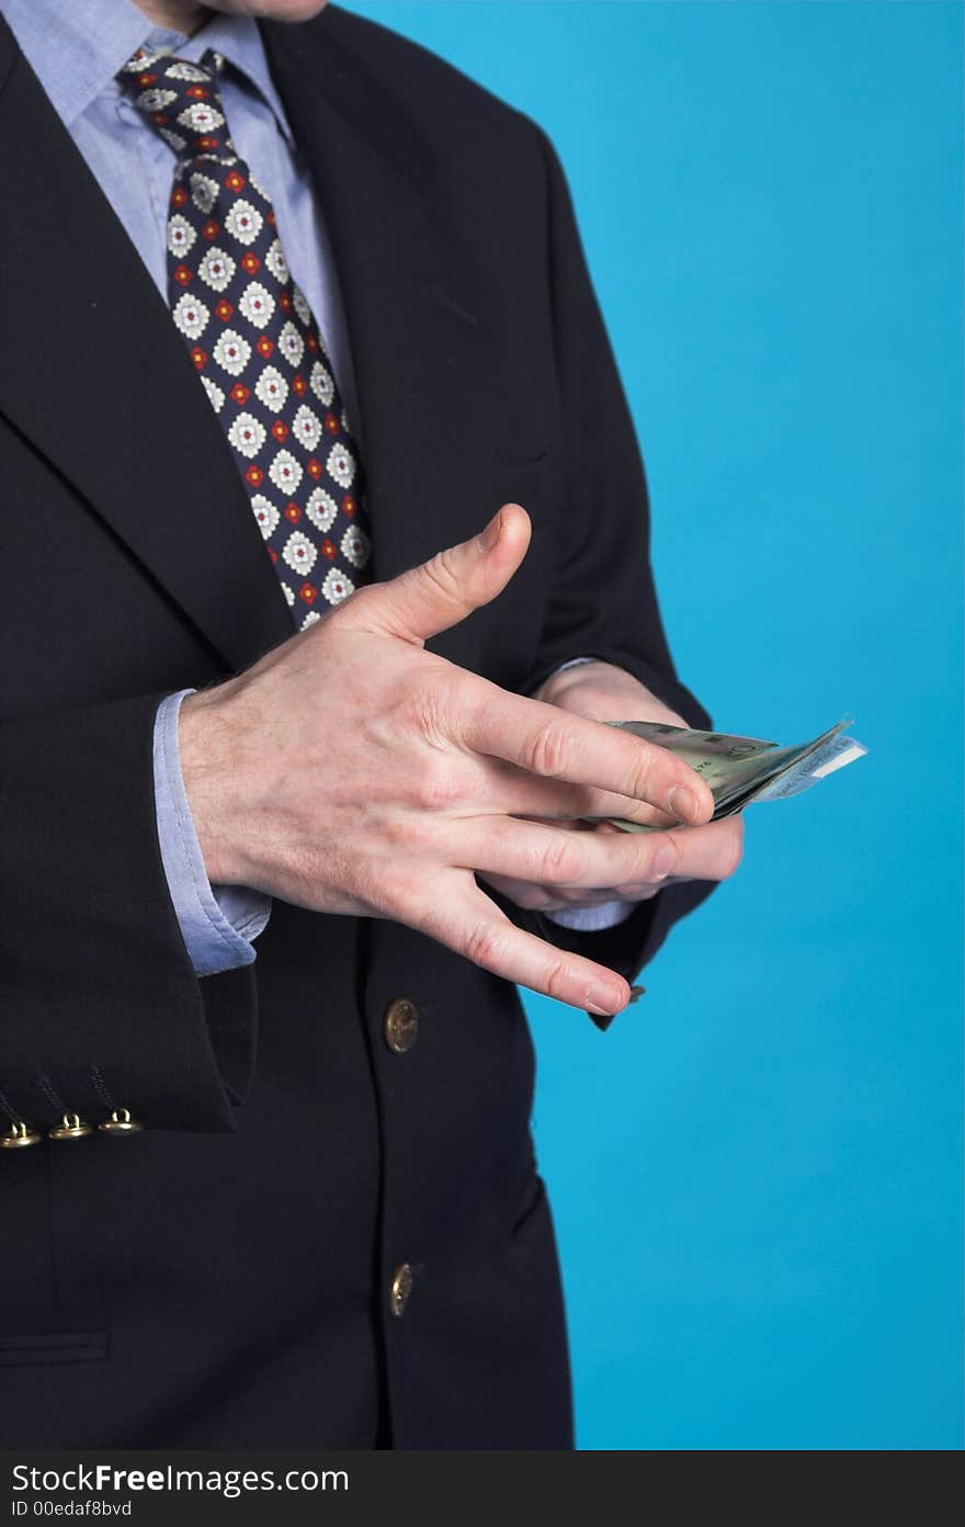
[[[347, 310], [376, 577], [481, 528], [492, 507], [487, 286], [437, 212], [411, 115], [327, 29], [263, 23], [273, 78], [325, 215]], [[476, 484], [467, 492], [467, 481]]]

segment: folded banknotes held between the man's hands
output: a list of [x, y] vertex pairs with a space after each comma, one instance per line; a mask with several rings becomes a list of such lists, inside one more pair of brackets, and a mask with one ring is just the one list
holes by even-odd
[[[811, 789], [835, 770], [863, 757], [867, 748], [846, 738], [850, 721], [838, 721], [812, 742], [782, 748], [760, 738], [734, 738], [722, 731], [689, 731], [661, 721], [614, 721], [614, 727], [679, 754], [707, 782], [715, 799], [712, 822], [731, 817], [756, 800], [785, 800]], [[625, 832], [654, 831], [640, 822], [609, 817]]]

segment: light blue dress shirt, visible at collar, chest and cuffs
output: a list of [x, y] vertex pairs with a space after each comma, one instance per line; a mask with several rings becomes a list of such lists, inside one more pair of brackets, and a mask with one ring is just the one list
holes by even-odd
[[[115, 76], [137, 47], [179, 53], [192, 63], [211, 47], [234, 66], [220, 81], [232, 139], [241, 159], [270, 191], [289, 267], [325, 336], [353, 432], [363, 446], [328, 232], [253, 18], [214, 14], [186, 38], [153, 27], [133, 0], [70, 0], [69, 5], [63, 0], [0, 0], [0, 11], [144, 260], [165, 307], [165, 231], [174, 156], [121, 92]], [[269, 919], [270, 899], [240, 886], [212, 887], [205, 872], [177, 741], [180, 704], [189, 693], [169, 695], [157, 710], [157, 834], [188, 956], [198, 976], [212, 976], [255, 959], [253, 939]], [[625, 902], [608, 902], [553, 916], [566, 927], [591, 930], [612, 927], [631, 910]]]

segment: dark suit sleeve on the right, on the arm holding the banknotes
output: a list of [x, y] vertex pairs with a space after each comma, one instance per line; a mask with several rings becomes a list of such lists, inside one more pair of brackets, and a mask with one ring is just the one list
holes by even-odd
[[[673, 667], [650, 570], [649, 501], [634, 425], [563, 171], [553, 145], [536, 131], [547, 168], [548, 282], [568, 455], [560, 560], [527, 692], [574, 655], [595, 657], [628, 669], [692, 727], [708, 728], [710, 716]], [[712, 889], [707, 881], [667, 887], [625, 922], [592, 933], [539, 913], [513, 916], [557, 947], [632, 979], [673, 922]], [[609, 1020], [594, 1022], [605, 1028]]]

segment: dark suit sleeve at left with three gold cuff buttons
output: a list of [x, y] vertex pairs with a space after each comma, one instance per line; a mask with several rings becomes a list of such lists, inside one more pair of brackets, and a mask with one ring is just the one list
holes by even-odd
[[229, 1132], [247, 1090], [253, 974], [198, 979], [160, 858], [160, 698], [0, 725], [0, 1109], [40, 1128]]

